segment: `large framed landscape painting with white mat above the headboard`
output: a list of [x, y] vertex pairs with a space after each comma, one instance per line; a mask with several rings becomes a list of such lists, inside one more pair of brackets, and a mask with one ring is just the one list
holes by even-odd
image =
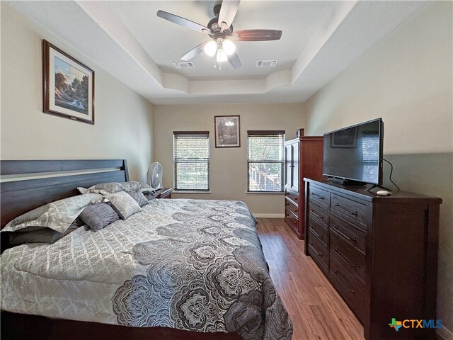
[[94, 124], [94, 71], [42, 40], [44, 113]]

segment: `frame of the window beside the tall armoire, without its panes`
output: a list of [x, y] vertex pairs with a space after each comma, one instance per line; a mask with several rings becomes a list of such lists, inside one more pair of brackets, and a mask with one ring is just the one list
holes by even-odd
[[[282, 154], [282, 159], [280, 161], [275, 161], [273, 159], [260, 159], [259, 162], [257, 162], [257, 159], [249, 159], [249, 137], [250, 136], [270, 136], [270, 135], [281, 135], [281, 154]], [[285, 193], [285, 130], [248, 130], [247, 131], [247, 191], [246, 193], [251, 193], [251, 194], [283, 194]], [[250, 164], [251, 163], [273, 163], [273, 164], [280, 164], [280, 169], [282, 170], [281, 176], [280, 176], [280, 190], [279, 191], [256, 191], [256, 190], [251, 190], [250, 183], [251, 183], [251, 178], [250, 178]]]

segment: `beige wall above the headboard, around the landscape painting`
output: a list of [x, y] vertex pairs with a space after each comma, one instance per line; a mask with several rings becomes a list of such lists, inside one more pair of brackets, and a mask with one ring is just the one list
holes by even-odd
[[[42, 113], [42, 38], [96, 72], [95, 125]], [[1, 4], [1, 159], [127, 159], [131, 180], [146, 181], [153, 111], [93, 61]]]

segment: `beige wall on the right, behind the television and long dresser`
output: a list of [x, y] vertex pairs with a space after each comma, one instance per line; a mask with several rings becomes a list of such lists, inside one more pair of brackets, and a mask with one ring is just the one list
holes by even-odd
[[[306, 102], [322, 134], [384, 120], [384, 157], [403, 190], [440, 196], [437, 317], [453, 330], [452, 2], [432, 1]], [[384, 179], [389, 168], [384, 166]], [[388, 180], [386, 180], [386, 185]], [[403, 260], [402, 260], [403, 261]], [[446, 334], [445, 329], [440, 333]], [[450, 334], [451, 336], [451, 334]]]

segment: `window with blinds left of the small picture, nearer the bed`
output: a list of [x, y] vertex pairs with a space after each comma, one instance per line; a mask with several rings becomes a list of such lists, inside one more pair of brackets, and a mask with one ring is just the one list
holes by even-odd
[[173, 132], [174, 186], [178, 191], [210, 190], [210, 132]]

